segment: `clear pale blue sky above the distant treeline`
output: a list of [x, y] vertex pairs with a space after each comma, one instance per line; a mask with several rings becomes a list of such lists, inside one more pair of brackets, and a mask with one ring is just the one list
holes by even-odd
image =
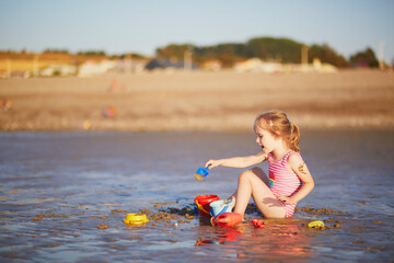
[[[349, 59], [371, 47], [394, 60], [393, 0], [0, 0], [0, 49], [153, 56], [197, 46], [287, 37], [328, 44]], [[380, 44], [381, 43], [381, 44]]]

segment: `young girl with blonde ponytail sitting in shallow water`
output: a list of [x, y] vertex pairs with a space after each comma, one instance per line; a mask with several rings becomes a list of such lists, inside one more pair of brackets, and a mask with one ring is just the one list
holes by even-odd
[[268, 178], [260, 168], [240, 174], [236, 192], [231, 196], [235, 204], [233, 211], [243, 216], [252, 196], [265, 217], [291, 217], [297, 203], [314, 187], [299, 153], [299, 129], [285, 113], [270, 111], [256, 117], [254, 130], [262, 151], [247, 157], [209, 160], [206, 167], [246, 168], [268, 160]]

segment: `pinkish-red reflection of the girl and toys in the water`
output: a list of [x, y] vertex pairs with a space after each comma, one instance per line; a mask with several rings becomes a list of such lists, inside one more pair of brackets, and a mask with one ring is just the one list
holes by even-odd
[[264, 228], [250, 221], [235, 227], [198, 228], [196, 247], [224, 245], [224, 254], [236, 258], [306, 259], [313, 254], [311, 233], [294, 219], [266, 219]]

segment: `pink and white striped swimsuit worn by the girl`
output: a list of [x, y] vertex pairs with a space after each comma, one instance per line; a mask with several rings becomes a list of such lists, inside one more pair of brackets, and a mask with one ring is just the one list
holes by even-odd
[[[289, 157], [292, 155], [299, 155], [296, 151], [288, 152], [282, 159], [280, 159], [277, 162], [273, 162], [273, 153], [268, 153], [268, 172], [269, 172], [269, 183], [268, 187], [274, 193], [275, 197], [278, 195], [285, 195], [285, 196], [292, 196], [296, 194], [302, 185], [301, 180], [299, 176], [293, 172], [290, 171], [286, 163], [289, 159]], [[300, 156], [300, 155], [299, 155]], [[291, 217], [294, 213], [294, 208], [297, 204], [289, 205], [285, 202], [279, 201], [282, 203], [286, 211], [286, 217]]]

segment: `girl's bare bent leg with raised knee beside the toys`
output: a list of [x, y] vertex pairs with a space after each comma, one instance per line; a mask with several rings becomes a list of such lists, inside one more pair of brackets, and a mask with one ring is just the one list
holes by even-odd
[[260, 169], [254, 168], [241, 173], [234, 196], [236, 201], [234, 213], [239, 213], [243, 216], [252, 195], [257, 208], [265, 217], [285, 217], [286, 213], [283, 205], [275, 198], [265, 181], [268, 183], [267, 176]]

